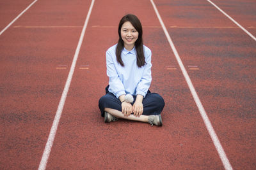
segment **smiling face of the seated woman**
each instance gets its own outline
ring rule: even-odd
[[[121,36],[125,48],[127,48],[127,50],[132,50],[135,41],[138,39],[139,32],[133,27],[131,22],[127,21],[121,27]]]

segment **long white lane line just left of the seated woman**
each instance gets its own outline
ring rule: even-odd
[[[77,45],[77,48],[76,48],[76,53],[74,55],[72,65],[71,65],[70,71],[68,73],[68,78],[67,78],[64,90],[62,92],[62,95],[61,95],[58,110],[56,111],[56,115],[55,115],[55,118],[54,118],[54,121],[53,121],[53,124],[52,124],[52,127],[51,127],[51,132],[50,132],[49,137],[47,139],[47,143],[45,145],[44,153],[42,155],[42,159],[41,159],[40,165],[38,167],[38,169],[40,169],[40,170],[46,168],[47,161],[48,161],[49,155],[51,153],[52,143],[53,143],[55,135],[56,135],[58,124],[60,122],[61,113],[62,113],[64,104],[65,104],[65,101],[66,101],[66,97],[67,97],[67,94],[68,94],[68,89],[70,87],[70,83],[71,83],[71,80],[72,80],[74,69],[76,67],[76,61],[77,61],[79,51],[80,51],[80,48],[81,48],[81,45],[82,45],[82,42],[83,42],[84,33],[86,31],[86,27],[87,27],[90,15],[92,13],[92,8],[93,8],[94,1],[95,0],[92,0],[92,3],[90,5],[90,9],[88,11],[86,20],[84,22],[83,31],[81,32],[81,36],[80,36],[80,39],[79,39],[79,42],[78,42],[78,45]]]

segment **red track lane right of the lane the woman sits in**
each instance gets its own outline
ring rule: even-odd
[[[160,4],[163,1],[156,1]],[[183,2],[187,4],[186,2]],[[191,6],[202,1],[189,1]],[[173,1],[172,5],[180,4]],[[159,11],[167,15],[167,6]],[[169,6],[171,8],[171,6]],[[179,5],[180,13],[188,6]],[[198,70],[189,69],[188,73],[198,91],[204,108],[207,111],[212,125],[227,153],[227,157],[234,168],[253,169],[255,161],[253,150],[255,143],[255,42],[244,34],[241,29],[217,29],[225,16],[221,13],[211,14],[211,10],[187,11],[191,15],[208,16],[208,20],[216,20],[212,28],[169,29],[170,36],[179,51],[184,64],[196,66]],[[214,8],[214,7],[212,7]],[[196,11],[196,12],[195,12]],[[196,14],[195,14],[195,13]],[[201,14],[200,14],[201,13]],[[187,18],[188,22],[198,23],[201,17]],[[166,25],[179,23],[173,22],[173,17],[163,18]],[[177,20],[179,22],[179,20]],[[232,22],[228,22],[232,24]],[[208,23],[205,23],[206,25]],[[190,25],[188,24],[187,27]],[[191,67],[190,67],[191,68]]]

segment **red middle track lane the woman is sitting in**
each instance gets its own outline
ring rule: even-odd
[[[134,3],[95,2],[47,169],[223,168],[182,74],[167,69],[177,62],[152,5],[136,1],[131,10]],[[145,45],[153,52],[151,90],[166,100],[161,128],[126,120],[104,124],[100,117],[97,105],[108,84],[105,52],[115,44],[118,21],[128,12],[143,22]]]

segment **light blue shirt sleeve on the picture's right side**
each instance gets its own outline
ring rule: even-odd
[[[136,96],[138,94],[142,95],[143,97],[146,96],[148,89],[150,87],[152,76],[151,76],[151,51],[149,49],[145,52],[145,61],[147,64],[144,66],[143,75],[141,77],[140,82],[138,83],[137,89],[136,89]]]

